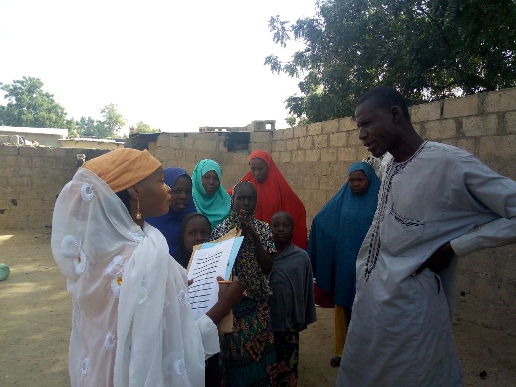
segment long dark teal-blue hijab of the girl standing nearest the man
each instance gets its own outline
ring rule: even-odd
[[[348,175],[358,170],[367,176],[367,191],[355,195],[346,182],[312,221],[307,249],[317,286],[334,294],[335,304],[347,309],[356,292],[357,255],[373,222],[380,189],[372,166],[354,163]]]

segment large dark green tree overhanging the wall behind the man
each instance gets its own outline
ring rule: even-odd
[[[305,45],[289,61],[265,60],[302,77],[286,100],[297,122],[353,115],[378,85],[410,104],[516,86],[514,0],[322,0],[315,18],[276,16],[269,27],[282,47]]]

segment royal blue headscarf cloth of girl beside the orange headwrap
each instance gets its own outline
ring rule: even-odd
[[[188,173],[186,173],[184,169],[178,167],[166,168],[163,173],[165,174],[165,183],[170,188],[174,186],[175,181],[178,180],[179,176],[186,175],[188,176],[188,179],[190,179]],[[159,216],[157,218],[147,219],[147,222],[150,225],[153,225],[165,236],[165,239],[167,239],[168,243],[168,251],[173,257],[178,251],[179,230],[181,228],[181,222],[186,215],[192,212],[197,212],[197,208],[190,196],[190,201],[186,205],[186,208],[183,209],[183,211],[176,212],[170,209],[168,214]]]

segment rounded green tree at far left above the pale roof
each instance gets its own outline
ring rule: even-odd
[[[14,80],[10,85],[3,85],[7,105],[0,105],[0,124],[69,127],[65,108],[54,100],[53,94],[43,91],[42,87],[41,79],[27,76]]]

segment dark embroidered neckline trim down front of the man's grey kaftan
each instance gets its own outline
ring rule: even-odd
[[[365,282],[369,280],[371,272],[376,267],[376,262],[378,261],[378,255],[380,254],[380,224],[383,221],[385,216],[385,210],[387,209],[387,204],[389,202],[389,195],[392,190],[392,181],[394,176],[396,176],[399,171],[404,169],[407,164],[409,164],[418,154],[420,154],[425,148],[427,141],[423,142],[421,147],[410,157],[407,161],[397,164],[394,166],[394,159],[385,167],[385,181],[382,184],[382,191],[380,193],[380,204],[378,217],[376,219],[375,228],[373,230],[373,235],[371,236],[371,243],[369,244],[369,252],[367,254],[367,262],[365,265]],[[394,170],[393,169],[394,166]],[[392,173],[391,173],[392,170]]]

